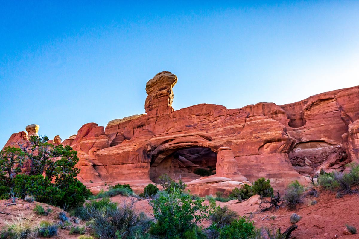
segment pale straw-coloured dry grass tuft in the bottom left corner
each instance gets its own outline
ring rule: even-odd
[[[12,222],[5,222],[8,226],[8,236],[11,239],[33,238],[37,229],[38,221],[34,215],[25,217],[24,214],[18,214],[12,218]]]

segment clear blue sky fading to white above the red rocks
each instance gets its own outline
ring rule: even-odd
[[[132,2],[0,0],[0,148],[28,124],[66,139],[144,113],[164,70],[174,109],[359,84],[359,1]]]

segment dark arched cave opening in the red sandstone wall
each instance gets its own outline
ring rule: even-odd
[[[166,152],[162,154],[166,154]],[[160,162],[153,160],[150,168],[150,179],[158,183],[158,178],[166,173],[174,180],[181,177],[182,181],[189,182],[215,174],[216,163],[217,153],[210,148],[190,147],[171,150],[171,153],[164,156]]]

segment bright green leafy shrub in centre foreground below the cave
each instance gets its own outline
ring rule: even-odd
[[[203,199],[182,193],[174,188],[170,193],[159,192],[158,197],[150,201],[156,223],[150,233],[165,238],[182,237],[188,230],[196,227],[207,218],[208,206]]]

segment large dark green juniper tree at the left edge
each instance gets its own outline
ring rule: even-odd
[[[90,192],[76,179],[80,172],[75,167],[79,161],[77,152],[47,140],[46,136],[32,135],[26,147],[0,150],[0,197],[9,195],[9,187],[22,199],[33,195],[39,202],[62,208],[84,203]],[[24,162],[29,175],[19,174]]]

